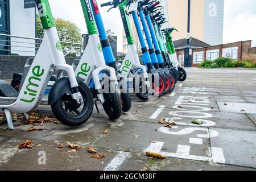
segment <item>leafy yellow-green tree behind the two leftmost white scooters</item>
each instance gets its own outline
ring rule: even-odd
[[[76,26],[76,24],[60,18],[54,18],[54,21],[60,41],[71,43],[82,42],[81,30]],[[39,16],[36,18],[36,36],[38,38],[43,38],[44,36],[44,30]],[[67,43],[61,43],[61,46],[63,47],[64,54],[68,53],[74,48],[77,48],[76,45]],[[77,51],[77,49],[75,49],[75,51]]]

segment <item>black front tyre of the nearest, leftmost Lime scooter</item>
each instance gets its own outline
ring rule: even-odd
[[[79,92],[82,94],[84,98],[84,103],[82,104],[82,110],[80,114],[76,113],[77,115],[73,115],[68,113],[68,110],[71,112],[76,112],[79,110],[81,105],[76,104],[76,102],[72,99],[70,95],[64,95],[59,100],[51,105],[52,112],[55,117],[64,125],[67,126],[80,126],[84,124],[92,114],[93,111],[93,96],[90,92],[90,89],[84,82],[79,83]],[[65,108],[63,107],[63,103]],[[76,111],[74,111],[76,110]]]

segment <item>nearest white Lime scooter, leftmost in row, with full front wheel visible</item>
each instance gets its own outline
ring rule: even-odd
[[[0,80],[0,108],[5,111],[9,129],[13,130],[11,113],[23,113],[28,119],[24,113],[40,104],[52,73],[64,71],[68,77],[57,80],[52,86],[48,104],[60,122],[68,126],[82,125],[92,114],[92,93],[65,62],[48,0],[35,2],[44,28],[44,39],[29,71],[23,75],[24,82],[19,93],[7,82]]]

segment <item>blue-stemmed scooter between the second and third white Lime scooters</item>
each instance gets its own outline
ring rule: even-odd
[[[125,76],[121,74],[121,72],[117,71],[117,65],[115,63],[115,57],[112,51],[112,48],[109,43],[108,35],[106,35],[104,23],[101,18],[100,10],[98,8],[98,4],[96,0],[90,0],[90,5],[92,7],[94,19],[98,28],[98,34],[100,35],[102,52],[104,55],[105,63],[109,67],[115,69],[115,74],[117,75],[117,81],[119,84],[119,88],[126,89],[124,92],[121,92],[121,101],[122,101],[122,111],[127,112],[131,109],[131,97],[127,92],[127,82]]]

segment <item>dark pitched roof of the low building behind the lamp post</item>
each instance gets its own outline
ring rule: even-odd
[[[193,37],[191,37],[189,39],[189,42],[190,42],[190,46],[192,48],[203,48],[203,47],[210,46],[209,44],[207,44],[201,40],[198,40],[196,38],[193,38]],[[187,39],[179,39],[179,40],[174,41],[175,49],[183,49],[183,48],[185,48],[186,45],[187,45]]]

